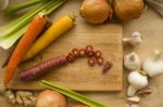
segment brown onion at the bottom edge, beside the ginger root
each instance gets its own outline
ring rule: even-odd
[[[46,90],[38,95],[36,107],[67,107],[67,104],[61,93]]]

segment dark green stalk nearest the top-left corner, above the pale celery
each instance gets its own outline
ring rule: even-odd
[[[21,3],[16,3],[16,4],[11,4],[4,10],[4,14],[7,16],[12,16],[15,12],[22,9],[25,9],[25,8],[28,8],[28,6],[45,2],[45,1],[48,1],[48,0],[29,0],[29,1],[24,1]]]

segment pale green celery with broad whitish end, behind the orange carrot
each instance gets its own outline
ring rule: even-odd
[[[36,14],[38,14],[38,12],[46,10],[46,14],[48,15],[65,2],[66,0],[50,0],[42,2],[37,8],[27,12],[17,19],[0,27],[0,46],[5,50],[11,48],[25,32],[28,27],[28,23]]]

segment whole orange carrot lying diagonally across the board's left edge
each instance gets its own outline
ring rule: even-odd
[[[46,17],[43,17],[43,14],[39,13],[30,22],[27,30],[21,38],[9,61],[3,78],[4,85],[8,85],[8,83],[12,79],[17,65],[20,64],[21,59],[26,54],[26,52],[28,51],[28,49],[30,48],[30,45],[33,44],[33,42],[35,41],[41,29],[43,28],[46,21],[47,19]]]

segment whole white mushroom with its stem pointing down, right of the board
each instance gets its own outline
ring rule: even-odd
[[[143,89],[148,85],[148,78],[147,76],[143,76],[138,71],[131,71],[128,75],[128,82],[129,82],[129,86],[128,86],[127,95],[134,96],[138,90]]]

